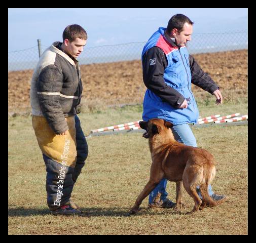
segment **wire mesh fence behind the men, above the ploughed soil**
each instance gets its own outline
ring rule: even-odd
[[[138,60],[146,42],[106,45],[84,49],[78,60],[81,64]],[[48,47],[42,45],[43,53]],[[248,49],[248,31],[223,33],[193,33],[187,48],[190,54]],[[38,45],[29,49],[8,52],[8,71],[35,68],[39,60]]]

